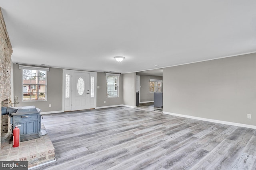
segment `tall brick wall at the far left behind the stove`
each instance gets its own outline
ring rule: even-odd
[[[0,102],[11,96],[11,54],[12,45],[6,30],[6,25],[0,8]],[[0,110],[0,113],[2,111]],[[2,132],[2,116],[0,116],[0,131]],[[1,137],[1,133],[0,133]],[[1,141],[0,141],[1,145]]]

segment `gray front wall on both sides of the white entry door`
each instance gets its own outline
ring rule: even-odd
[[[62,69],[50,68],[47,78],[47,101],[34,101],[34,102],[22,102],[22,71],[19,69],[18,64],[13,64],[13,96],[18,96],[18,107],[20,106],[36,106],[42,110],[42,112],[48,111],[60,111],[62,110]],[[97,72],[97,107],[113,106],[123,104],[123,84],[122,74],[119,77],[119,97],[107,98],[106,97],[106,75],[104,72]],[[104,104],[106,101],[106,104]],[[49,104],[52,107],[49,107]],[[132,105],[134,106],[134,105]]]

